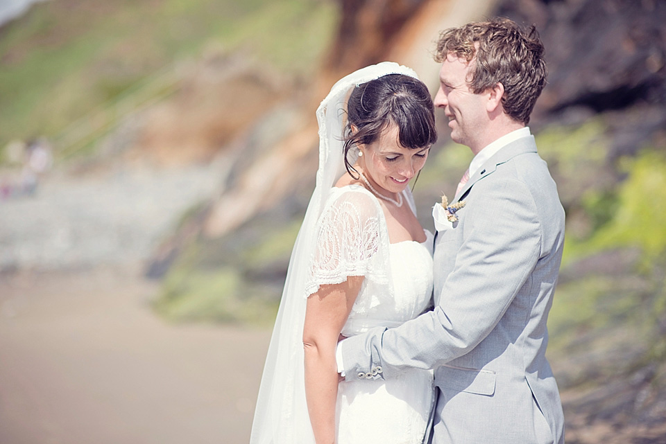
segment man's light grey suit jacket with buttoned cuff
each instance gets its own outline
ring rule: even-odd
[[[346,379],[434,369],[435,444],[561,444],[545,350],[564,211],[533,137],[488,159],[458,199],[459,222],[435,242],[434,310],[345,339]]]

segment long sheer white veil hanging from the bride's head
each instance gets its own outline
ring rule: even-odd
[[[343,130],[348,93],[361,83],[388,74],[418,78],[414,71],[394,62],[366,66],[336,82],[317,109],[319,169],[316,187],[291,252],[287,281],[259,387],[250,444],[314,444],[305,402],[302,334],[307,301],[305,281],[316,245],[316,225],[328,193],[345,172]],[[350,163],[355,160],[350,159]]]

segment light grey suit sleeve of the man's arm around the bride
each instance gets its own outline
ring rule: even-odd
[[[384,378],[404,368],[436,368],[475,348],[529,279],[541,250],[541,224],[527,186],[517,179],[480,181],[440,303],[398,328],[375,328],[343,341],[348,380],[381,366]],[[461,221],[462,222],[462,221]],[[435,270],[437,273],[437,270]]]

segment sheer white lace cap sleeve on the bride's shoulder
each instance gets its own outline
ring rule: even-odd
[[[360,186],[332,190],[318,221],[305,295],[364,276],[388,283],[388,232],[377,199]]]

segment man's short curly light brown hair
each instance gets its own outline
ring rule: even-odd
[[[524,30],[515,21],[496,18],[444,30],[435,60],[453,53],[472,63],[470,91],[480,94],[504,86],[504,112],[527,125],[536,99],[546,85],[544,47],[535,26]]]

